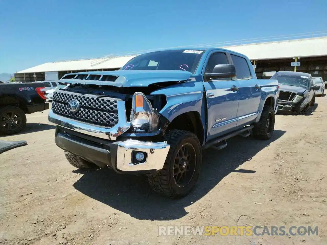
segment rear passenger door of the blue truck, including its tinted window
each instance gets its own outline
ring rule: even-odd
[[[237,126],[250,123],[258,114],[260,103],[260,84],[255,74],[251,74],[251,63],[248,59],[231,53],[239,82],[239,106],[237,110]],[[253,71],[254,73],[254,71]]]

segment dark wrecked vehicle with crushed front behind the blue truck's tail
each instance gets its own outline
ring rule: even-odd
[[[302,114],[315,104],[312,76],[301,72],[277,72],[270,79],[279,83],[278,112]]]

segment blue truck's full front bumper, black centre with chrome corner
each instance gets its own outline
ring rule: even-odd
[[[109,166],[121,173],[152,173],[163,168],[170,145],[167,142],[96,141],[86,135],[57,127],[55,142],[64,151],[77,155],[99,167]],[[135,155],[142,152],[145,159],[137,162]]]

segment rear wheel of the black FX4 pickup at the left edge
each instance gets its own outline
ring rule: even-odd
[[[26,115],[17,106],[0,108],[0,134],[10,135],[21,132],[26,125]]]

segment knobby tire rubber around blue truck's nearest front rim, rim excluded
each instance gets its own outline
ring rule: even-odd
[[[186,196],[196,185],[202,164],[202,148],[198,137],[188,131],[171,130],[164,136],[164,140],[170,144],[163,169],[148,175],[148,182],[152,190],[173,199]],[[185,187],[181,188],[174,179],[174,162],[177,153],[185,143],[190,143],[196,154],[196,164],[193,176]]]

